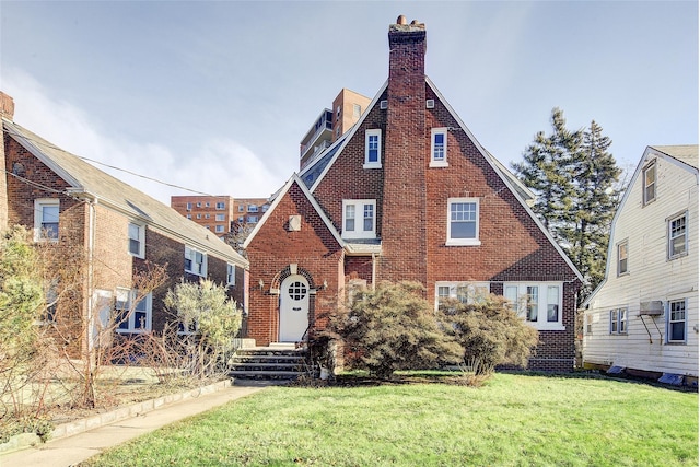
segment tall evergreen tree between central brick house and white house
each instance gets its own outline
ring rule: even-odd
[[[619,202],[620,170],[608,152],[611,140],[595,121],[570,131],[563,112],[552,109],[552,133],[544,131],[512,167],[537,195],[533,207],[584,277],[586,296],[605,273],[610,222]]]

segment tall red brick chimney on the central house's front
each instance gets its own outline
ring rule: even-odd
[[[389,25],[381,278],[427,282],[425,25]]]

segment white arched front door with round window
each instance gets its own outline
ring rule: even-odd
[[[280,342],[299,342],[308,327],[308,281],[290,276],[280,288]]]

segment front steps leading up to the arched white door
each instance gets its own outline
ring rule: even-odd
[[[235,380],[295,380],[312,369],[306,349],[272,342],[269,347],[241,348],[231,359],[229,375]]]

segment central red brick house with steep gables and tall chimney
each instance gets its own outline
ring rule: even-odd
[[[279,190],[244,246],[248,336],[302,341],[351,287],[415,280],[504,295],[539,330],[529,367],[570,371],[582,280],[528,191],[424,74],[425,27],[389,25],[389,75],[358,124]]]

